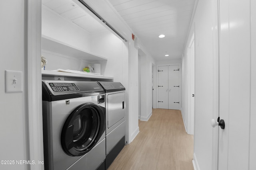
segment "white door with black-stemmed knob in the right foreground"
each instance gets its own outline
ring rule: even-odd
[[[256,39],[251,35],[256,33],[255,27],[252,29],[256,20],[251,12],[256,5],[250,0],[219,2],[219,114],[225,129],[219,129],[218,170],[254,170],[256,151],[250,148],[255,149],[256,141],[255,116],[252,117],[256,96],[252,93],[256,89],[252,64],[256,63],[251,43]]]

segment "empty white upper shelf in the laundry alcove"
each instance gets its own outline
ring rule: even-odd
[[[84,59],[88,62],[108,60],[106,57],[96,55],[83,49],[79,49],[57,39],[48,37],[46,35],[42,35],[42,49],[52,51],[54,53],[59,53],[62,55],[76,57],[78,59]]]

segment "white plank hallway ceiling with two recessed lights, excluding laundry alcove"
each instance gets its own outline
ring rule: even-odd
[[[181,59],[195,0],[109,1],[156,61]]]

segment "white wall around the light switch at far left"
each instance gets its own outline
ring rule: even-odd
[[[0,160],[14,160],[14,165],[2,165],[0,169],[27,170],[26,164],[16,164],[16,160],[28,160],[28,115],[26,94],[5,93],[4,70],[23,72],[25,76],[25,1],[2,1],[0,7]],[[23,79],[25,82],[25,79]],[[24,87],[24,84],[23,84]]]

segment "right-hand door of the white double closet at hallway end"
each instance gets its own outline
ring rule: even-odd
[[[168,108],[180,109],[179,65],[168,66]]]

